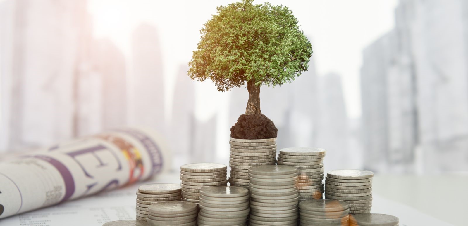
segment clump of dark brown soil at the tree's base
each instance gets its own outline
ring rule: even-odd
[[[278,135],[273,121],[262,113],[241,114],[233,127],[231,137],[236,139],[267,139]]]

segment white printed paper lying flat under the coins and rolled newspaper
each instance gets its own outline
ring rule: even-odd
[[[139,184],[148,183],[179,183],[179,175],[161,175]],[[135,219],[139,184],[0,219],[0,226],[102,226],[109,221]],[[373,195],[372,212],[394,215],[400,219],[400,226],[452,226],[378,195]]]

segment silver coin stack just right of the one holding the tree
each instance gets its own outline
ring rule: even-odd
[[[322,148],[283,148],[279,150],[278,165],[294,166],[298,169],[299,199],[322,199],[323,158]]]

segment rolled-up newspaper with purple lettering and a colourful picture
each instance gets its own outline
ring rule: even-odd
[[[131,184],[167,170],[161,136],[116,129],[0,162],[0,219]]]

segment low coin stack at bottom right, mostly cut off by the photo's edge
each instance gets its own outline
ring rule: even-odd
[[[350,226],[399,226],[400,220],[392,215],[361,213],[350,217]]]

